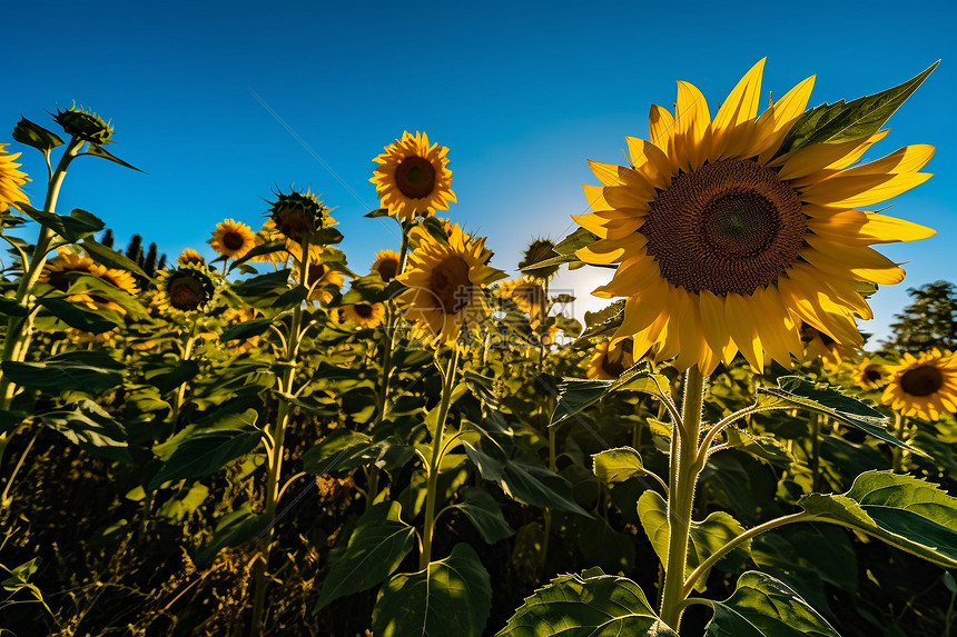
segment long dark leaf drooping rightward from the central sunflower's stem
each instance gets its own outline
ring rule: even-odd
[[[463,442],[468,459],[486,480],[497,482],[502,490],[524,505],[551,508],[591,517],[571,497],[571,487],[561,476],[544,467],[496,454],[494,458],[483,450]]]

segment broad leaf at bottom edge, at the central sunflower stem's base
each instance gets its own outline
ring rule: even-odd
[[[376,635],[480,637],[492,609],[492,584],[467,544],[418,573],[398,574],[382,587],[372,611]]]

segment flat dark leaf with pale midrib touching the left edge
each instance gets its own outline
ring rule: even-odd
[[[42,362],[0,364],[17,385],[59,391],[97,392],[122,382],[126,366],[105,351],[68,351]]]

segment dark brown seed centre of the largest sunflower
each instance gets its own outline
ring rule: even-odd
[[[750,295],[798,259],[808,221],[773,171],[727,159],[673,178],[639,231],[672,285]]]

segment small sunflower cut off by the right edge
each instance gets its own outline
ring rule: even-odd
[[[881,402],[904,416],[939,420],[940,414],[957,412],[957,356],[936,347],[915,358],[904,355],[900,365],[887,370],[889,381]]]

